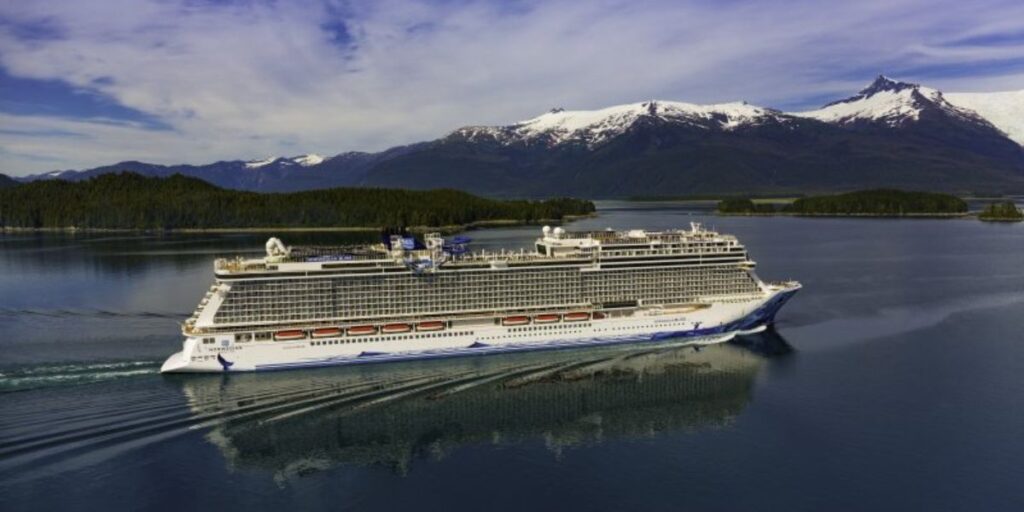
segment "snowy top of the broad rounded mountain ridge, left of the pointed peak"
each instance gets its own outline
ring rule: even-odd
[[[694,104],[651,100],[595,111],[553,109],[536,118],[509,126],[460,128],[450,137],[466,140],[494,139],[506,144],[543,142],[547,145],[558,145],[574,142],[596,146],[622,135],[641,120],[658,120],[706,130],[732,130],[740,126],[784,122],[790,119],[790,116],[778,111],[752,105],[745,101]]]

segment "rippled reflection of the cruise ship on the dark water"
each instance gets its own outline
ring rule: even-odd
[[[727,344],[683,342],[280,374],[183,378],[207,435],[233,468],[279,482],[338,465],[404,474],[468,444],[575,445],[729,425],[774,331]]]

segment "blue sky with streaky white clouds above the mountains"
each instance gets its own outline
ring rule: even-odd
[[[552,108],[1024,89],[1021,0],[11,0],[0,172],[380,151]]]

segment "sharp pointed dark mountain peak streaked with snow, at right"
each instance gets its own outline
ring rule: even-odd
[[[879,76],[851,97],[833,101],[816,111],[793,115],[825,123],[881,123],[900,127],[920,121],[922,115],[929,111],[938,111],[969,122],[982,121],[974,111],[954,105],[936,89],[897,82],[885,76]]]

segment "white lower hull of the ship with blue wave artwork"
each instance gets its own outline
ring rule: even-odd
[[[290,370],[543,350],[691,338],[694,344],[728,341],[763,330],[800,289],[774,289],[756,300],[719,301],[697,310],[639,309],[628,316],[583,322],[502,326],[453,324],[433,333],[338,336],[294,341],[236,342],[234,333],[188,337],[161,372],[221,373]],[[212,338],[212,339],[211,339]]]

